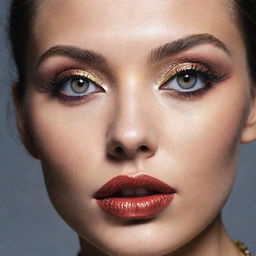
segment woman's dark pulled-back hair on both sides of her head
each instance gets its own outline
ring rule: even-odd
[[[256,81],[256,0],[230,0],[247,49],[250,75]],[[23,96],[26,83],[28,41],[39,0],[13,0],[10,8],[9,38],[17,66],[17,93]]]

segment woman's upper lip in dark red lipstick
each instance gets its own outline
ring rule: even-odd
[[[94,198],[101,199],[129,188],[146,188],[159,193],[175,193],[175,189],[152,176],[141,174],[135,177],[119,175],[105,183],[95,194]]]

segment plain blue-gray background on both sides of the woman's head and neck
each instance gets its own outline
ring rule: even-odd
[[[15,69],[5,39],[9,2],[0,0],[0,256],[73,256],[76,235],[53,210],[40,164],[23,149],[15,130],[9,86]],[[232,237],[245,241],[254,255],[255,155],[256,143],[242,146],[237,182],[223,212]]]

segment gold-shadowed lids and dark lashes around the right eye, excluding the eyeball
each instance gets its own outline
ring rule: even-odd
[[[202,66],[202,64],[198,64],[198,63],[192,63],[192,64],[186,64],[186,65],[187,67],[185,68],[183,67],[181,69],[174,67],[173,69],[175,69],[175,71],[171,75],[169,74],[170,72],[167,72],[167,74],[164,75],[164,78],[162,79],[163,82],[160,82],[161,84],[160,89],[164,88],[169,82],[173,81],[178,76],[194,75],[197,77],[201,77],[205,81],[204,82],[205,85],[204,87],[197,90],[179,91],[179,90],[164,88],[165,90],[171,91],[172,96],[176,98],[181,98],[184,100],[192,100],[196,97],[200,97],[204,95],[208,90],[213,88],[216,85],[216,83],[223,81],[224,78],[226,77],[226,74],[219,75],[217,74],[216,71],[208,67],[208,65],[207,67],[206,65]]]

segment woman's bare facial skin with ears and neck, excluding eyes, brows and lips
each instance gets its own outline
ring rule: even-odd
[[[152,49],[194,34],[213,35],[230,54],[204,43],[149,61]],[[240,255],[220,211],[234,182],[239,144],[255,140],[256,107],[244,42],[226,3],[45,0],[30,43],[26,93],[23,101],[16,98],[18,126],[42,162],[54,207],[79,234],[83,255]],[[58,54],[38,64],[56,45],[93,50],[106,61]],[[225,79],[192,99],[160,89],[170,63],[192,57],[214,63]],[[41,90],[70,66],[91,70],[105,91],[67,102]],[[93,194],[117,175],[139,173],[174,187],[171,205],[139,222],[102,212]]]

